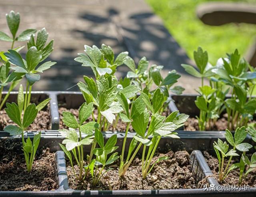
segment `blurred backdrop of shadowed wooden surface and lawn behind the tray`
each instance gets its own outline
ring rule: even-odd
[[[208,51],[213,65],[236,48],[248,61],[255,52],[256,0],[211,3],[210,0],[0,0],[0,31],[10,33],[5,14],[14,10],[20,13],[18,34],[28,28],[45,27],[49,40],[54,39],[54,51],[46,61],[57,64],[42,74],[34,90],[77,91],[74,85],[83,80],[83,75],[93,74],[74,58],[83,52],[84,44],[100,47],[104,43],[115,54],[128,51],[136,62],[146,56],[150,64],[164,65],[164,76],[172,69],[177,70],[182,75],[178,85],[186,88],[185,93],[195,93],[200,80],[186,74],[180,64],[194,64],[193,51],[198,46]],[[26,42],[16,46],[22,44]],[[0,41],[0,51],[9,48],[9,42]],[[22,55],[25,53],[24,48]],[[124,77],[127,71],[126,66],[120,66],[117,76]]]

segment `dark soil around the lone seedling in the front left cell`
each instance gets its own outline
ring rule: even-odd
[[[0,141],[0,191],[49,191],[57,188],[54,153],[39,148],[32,166],[26,170],[21,142]]]

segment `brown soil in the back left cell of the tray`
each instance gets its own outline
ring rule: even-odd
[[[0,131],[4,130],[7,125],[15,125],[12,120],[8,117],[5,110],[0,110]],[[28,127],[28,131],[44,131],[50,130],[50,105],[48,104],[45,111],[41,110],[38,112],[34,122]]]

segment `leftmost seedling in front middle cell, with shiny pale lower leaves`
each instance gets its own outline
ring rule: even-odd
[[[60,134],[66,139],[62,141],[63,144],[60,144],[60,147],[67,155],[70,160],[70,164],[72,166],[72,171],[76,176],[76,179],[82,181],[83,177],[83,169],[84,169],[84,149],[83,145],[89,145],[92,143],[94,135],[93,131],[98,128],[98,123],[91,121],[88,123],[84,123],[88,117],[92,114],[94,110],[93,103],[83,103],[79,109],[79,115],[77,121],[76,117],[70,113],[69,111],[63,112],[63,122],[65,125],[69,127],[68,129],[59,129]],[[78,129],[78,134],[76,133],[76,129]],[[82,138],[82,133],[86,134],[86,137]],[[73,159],[74,156],[76,163],[79,167],[79,175],[76,175],[74,171]]]

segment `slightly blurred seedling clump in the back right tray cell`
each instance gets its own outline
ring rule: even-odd
[[[223,112],[227,113],[229,130],[248,126],[256,110],[255,94],[256,72],[244,58],[240,58],[238,50],[220,58],[216,66],[208,62],[208,54],[202,48],[194,52],[194,60],[198,70],[193,66],[182,64],[192,76],[202,79],[195,104],[200,110],[198,127],[200,131],[211,130]],[[208,79],[209,85],[204,84]],[[231,93],[228,97],[227,94]]]

